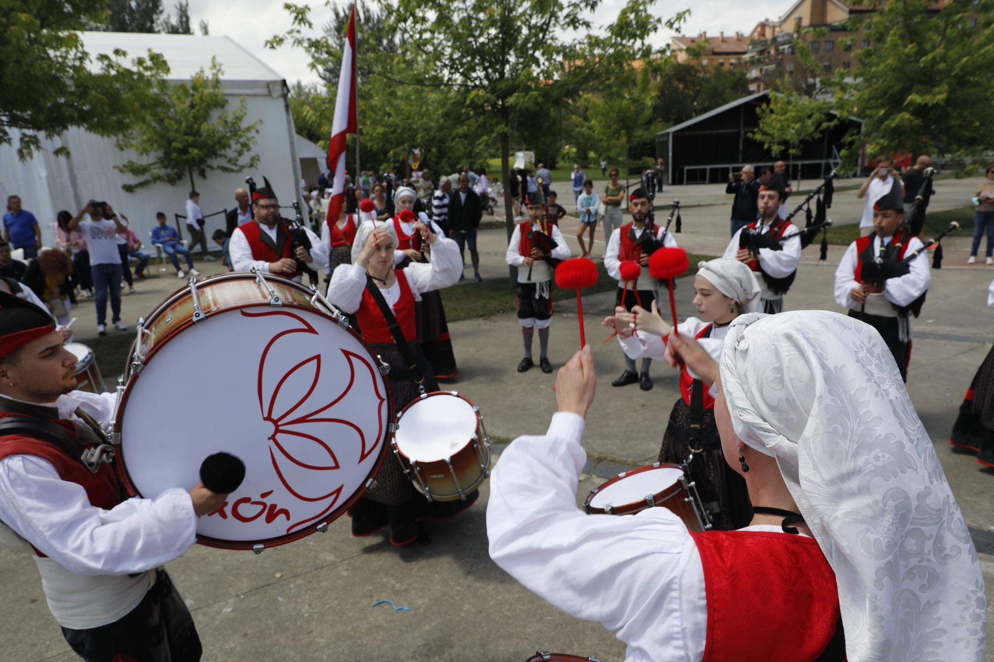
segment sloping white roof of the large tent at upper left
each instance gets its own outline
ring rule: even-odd
[[[148,51],[160,53],[169,64],[170,81],[189,81],[201,69],[217,58],[223,81],[253,81],[267,83],[282,81],[283,77],[250,54],[231,37],[212,35],[163,35],[132,32],[83,32],[83,48],[90,55],[113,56],[115,49],[127,53],[126,61],[144,56]]]

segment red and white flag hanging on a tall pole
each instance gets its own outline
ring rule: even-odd
[[[334,177],[331,200],[328,201],[329,226],[338,223],[338,215],[345,205],[345,147],[348,134],[355,134],[358,128],[356,115],[356,6],[353,4],[345,32],[342,71],[338,76],[335,116],[331,123],[331,143],[328,145],[328,169]]]

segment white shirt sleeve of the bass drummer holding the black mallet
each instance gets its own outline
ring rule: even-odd
[[[110,510],[90,505],[81,485],[47,460],[0,460],[0,520],[77,575],[127,575],[173,561],[196,542],[197,517],[183,489],[128,499]]]

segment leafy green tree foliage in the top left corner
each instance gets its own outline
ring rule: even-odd
[[[151,106],[155,85],[169,72],[152,53],[130,64],[120,50],[89,58],[79,32],[105,19],[106,0],[65,0],[36,13],[38,6],[5,0],[0,13],[0,143],[12,143],[18,132],[22,160],[41,148],[43,137],[74,126],[121,133]]]

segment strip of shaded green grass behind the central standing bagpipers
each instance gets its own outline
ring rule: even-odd
[[[697,273],[697,263],[702,259],[715,259],[713,255],[689,253],[691,268],[685,275]],[[595,294],[617,288],[617,281],[607,275],[607,270],[601,261],[597,261],[597,282],[583,294]],[[681,276],[683,277],[683,276]],[[553,299],[572,297],[574,294],[561,290],[554,285]],[[511,293],[511,279],[487,278],[482,282],[464,282],[461,285],[448,287],[441,291],[441,299],[445,304],[445,318],[449,322],[458,322],[474,317],[489,317],[498,313],[511,312],[515,309],[514,295]]]

